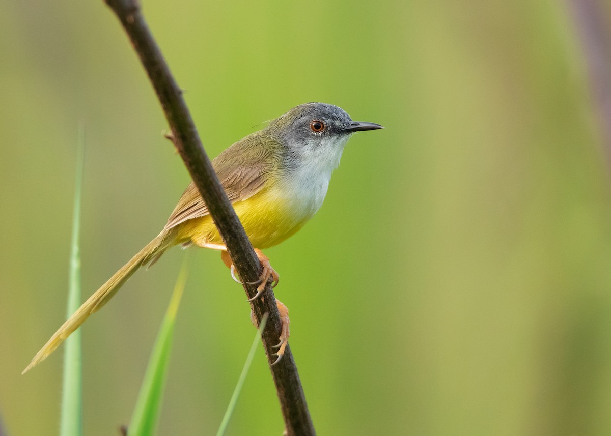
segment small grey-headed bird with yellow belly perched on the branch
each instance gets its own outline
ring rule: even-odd
[[[239,140],[213,159],[214,171],[262,264],[257,295],[268,282],[279,282],[262,249],[295,234],[320,209],[331,173],[340,163],[348,139],[356,132],[382,129],[357,122],[340,107],[305,103],[271,120],[265,128]],[[72,332],[116,294],[140,267],[151,266],[174,245],[220,250],[235,277],[232,260],[208,208],[193,182],[178,200],[166,225],[151,242],[115,272],[54,333],[23,374],[45,360]],[[288,308],[276,300],[282,320],[277,363],[289,336]],[[251,312],[252,318],[252,312]]]

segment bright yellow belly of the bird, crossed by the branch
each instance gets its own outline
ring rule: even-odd
[[[257,249],[280,244],[312,217],[310,213],[299,211],[274,189],[264,188],[251,198],[233,203],[233,208],[253,247]],[[210,215],[190,219],[178,227],[178,241],[190,240],[200,246],[224,244]]]

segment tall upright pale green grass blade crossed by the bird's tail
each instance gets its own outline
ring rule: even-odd
[[[67,316],[73,314],[81,305],[81,255],[79,254],[79,233],[81,229],[81,192],[84,155],[85,129],[81,124],[79,126],[76,159]],[[82,435],[82,362],[80,329],[72,333],[65,342],[64,380],[62,381],[62,413],[59,429],[60,436]]]

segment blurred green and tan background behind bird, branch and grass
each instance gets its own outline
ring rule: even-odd
[[[211,156],[307,101],[386,126],[266,250],[318,434],[611,434],[611,184],[568,4],[142,5]],[[1,2],[0,54],[0,415],[53,435],[61,351],[20,372],[64,321],[78,123],[84,297],[189,178],[102,1]],[[128,421],[184,254],[85,324],[85,434]],[[216,432],[255,333],[218,253],[195,254],[160,435]],[[229,434],[282,429],[259,350]]]

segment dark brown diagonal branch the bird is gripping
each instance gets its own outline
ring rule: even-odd
[[[261,270],[258,258],[212,169],[210,159],[203,150],[181,90],[144,21],[139,4],[136,0],[105,1],[119,18],[144,65],[172,130],[172,140],[225,240],[238,274],[244,279],[244,283],[255,282]],[[255,288],[255,285],[244,285],[244,291],[249,298],[255,295]],[[268,362],[271,363],[275,360],[272,346],[277,343],[280,336],[281,322],[276,308],[276,298],[269,285],[264,296],[265,299],[256,300],[252,306],[258,321],[265,312],[269,312],[269,320],[262,339]],[[290,347],[287,346],[282,360],[277,365],[271,366],[271,373],[276,383],[287,434],[314,435],[314,427]]]

